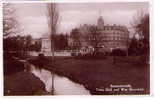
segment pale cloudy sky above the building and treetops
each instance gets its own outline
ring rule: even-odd
[[[45,3],[13,3],[24,33],[35,38],[48,33]],[[69,33],[82,24],[96,24],[99,16],[106,25],[118,24],[130,28],[133,17],[140,10],[148,12],[147,2],[129,3],[58,3],[58,32]]]

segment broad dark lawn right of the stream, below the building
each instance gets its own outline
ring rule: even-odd
[[[51,69],[59,75],[83,84],[91,91],[91,94],[149,94],[149,65],[134,63],[133,58],[118,57],[116,63],[113,64],[113,57],[99,60],[56,57],[55,66]],[[100,91],[109,88],[111,84],[131,85],[132,88],[144,90]]]

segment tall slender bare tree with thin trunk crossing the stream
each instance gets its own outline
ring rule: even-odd
[[[52,66],[54,66],[54,37],[57,32],[57,24],[58,24],[58,9],[57,4],[48,3],[47,4],[47,19],[48,19],[48,27],[50,32],[51,39],[51,52],[52,52]],[[54,94],[54,74],[52,75],[52,91],[51,94]]]

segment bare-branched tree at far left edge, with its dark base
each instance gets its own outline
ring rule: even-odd
[[[19,55],[25,55],[25,39],[21,35],[22,33],[20,24],[17,19],[16,9],[13,4],[3,4],[3,45],[5,45],[5,53],[15,51]],[[21,40],[20,40],[21,39]],[[9,45],[8,45],[9,44]],[[15,49],[11,48],[14,46]],[[8,48],[8,49],[7,49]]]

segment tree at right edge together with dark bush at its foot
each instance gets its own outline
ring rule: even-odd
[[[136,15],[132,25],[139,40],[132,39],[130,44],[130,52],[136,54],[149,54],[149,14],[143,11]],[[137,53],[138,52],[138,53]]]

